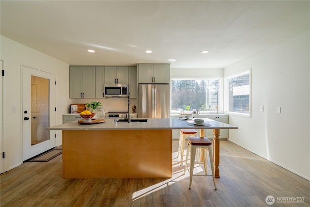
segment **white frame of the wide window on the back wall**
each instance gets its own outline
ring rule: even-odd
[[[218,113],[223,111],[223,77],[205,77],[205,78],[171,78],[170,85],[172,85],[172,80],[218,80]],[[170,93],[171,93],[170,87]],[[200,111],[201,114],[214,114],[215,111]],[[170,114],[179,114],[179,111],[172,111],[172,100],[170,97]]]

